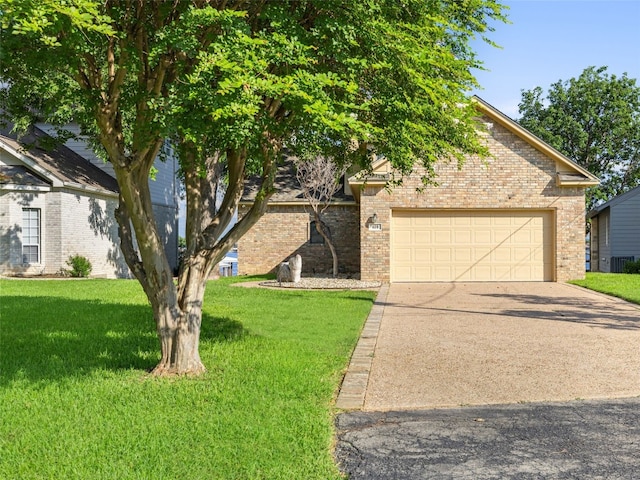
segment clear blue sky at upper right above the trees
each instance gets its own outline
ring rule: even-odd
[[[589,66],[626,72],[640,85],[640,0],[502,0],[510,24],[489,33],[502,48],[474,42],[489,71],[473,93],[518,118],[522,90],[580,76]]]

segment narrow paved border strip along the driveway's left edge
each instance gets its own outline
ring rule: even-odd
[[[389,284],[383,284],[378,290],[376,300],[364,324],[360,339],[351,355],[347,373],[342,380],[336,400],[336,408],[341,410],[362,410],[364,406],[369,373],[373,362],[373,352],[378,341],[380,321],[389,293]]]

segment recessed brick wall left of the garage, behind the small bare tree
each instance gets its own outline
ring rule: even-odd
[[[238,217],[248,211],[241,206]],[[330,206],[324,214],[338,254],[340,273],[360,271],[359,210],[355,204]],[[238,242],[238,273],[264,274],[276,271],[292,255],[302,257],[306,275],[330,274],[332,257],[329,247],[309,243],[309,224],[313,216],[305,205],[270,205],[267,212]]]

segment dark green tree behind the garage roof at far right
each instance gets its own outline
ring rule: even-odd
[[[587,191],[587,208],[640,185],[640,86],[607,67],[522,93],[518,122],[602,183]]]

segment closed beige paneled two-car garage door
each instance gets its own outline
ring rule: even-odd
[[[392,213],[392,281],[553,279],[552,212]]]

